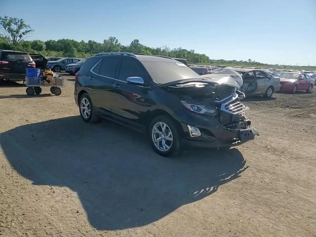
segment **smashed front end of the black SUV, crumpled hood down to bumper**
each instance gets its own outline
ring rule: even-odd
[[[238,91],[241,84],[229,75],[209,77],[160,85],[177,95],[184,107],[195,112],[177,115],[186,134],[185,140],[199,142],[200,146],[220,148],[254,139],[259,133],[250,127],[251,121],[246,118],[249,107],[240,102],[244,98],[244,93]],[[192,128],[198,136],[192,136]]]

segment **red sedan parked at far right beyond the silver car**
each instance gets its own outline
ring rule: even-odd
[[[283,72],[280,74],[280,90],[291,91],[306,90],[311,93],[314,86],[314,79],[306,73]]]

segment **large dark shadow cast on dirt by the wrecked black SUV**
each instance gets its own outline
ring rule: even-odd
[[[34,185],[77,192],[99,230],[143,226],[204,198],[247,167],[237,149],[193,150],[158,156],[143,136],[79,116],[23,125],[0,136],[10,164]]]

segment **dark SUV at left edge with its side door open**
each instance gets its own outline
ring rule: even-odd
[[[47,60],[40,54],[0,49],[0,81],[24,80],[27,68],[45,69]]]

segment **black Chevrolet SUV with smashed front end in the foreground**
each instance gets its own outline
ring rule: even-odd
[[[221,148],[254,139],[236,81],[216,77],[172,58],[102,53],[76,74],[75,101],[85,122],[104,117],[143,131],[163,156],[184,144]]]

